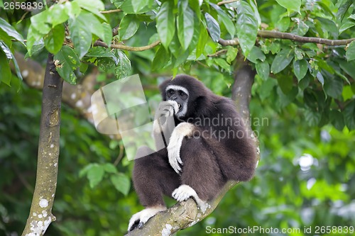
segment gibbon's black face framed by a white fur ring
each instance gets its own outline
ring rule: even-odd
[[[178,103],[179,110],[175,113],[176,117],[180,118],[186,115],[189,91],[185,87],[170,84],[165,89],[165,97],[167,101],[176,101]]]

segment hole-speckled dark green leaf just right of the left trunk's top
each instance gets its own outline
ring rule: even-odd
[[[70,84],[77,83],[74,70],[80,66],[80,59],[72,48],[67,45],[54,56],[55,67],[60,77]]]

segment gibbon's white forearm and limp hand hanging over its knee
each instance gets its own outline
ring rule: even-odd
[[[182,145],[182,140],[184,137],[192,137],[195,125],[192,123],[182,122],[176,126],[173,133],[170,136],[170,141],[168,145],[168,157],[170,166],[173,167],[176,173],[181,174],[182,171],[180,164],[182,165],[182,160],[180,157],[180,149]]]

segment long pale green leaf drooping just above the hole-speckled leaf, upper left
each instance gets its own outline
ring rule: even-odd
[[[95,18],[95,16],[88,12],[82,12],[77,18],[69,19],[70,36],[79,58],[84,57],[92,43],[92,30],[90,29],[92,27],[87,27],[91,18]],[[95,20],[97,21],[96,18]]]

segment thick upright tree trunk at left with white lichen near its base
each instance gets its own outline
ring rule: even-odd
[[[55,221],[52,206],[58,175],[62,84],[53,55],[49,54],[43,84],[35,192],[23,236],[44,235],[50,223]]]

